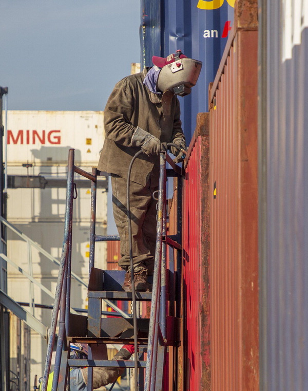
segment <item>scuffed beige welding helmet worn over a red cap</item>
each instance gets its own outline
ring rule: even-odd
[[[162,92],[170,90],[181,97],[190,94],[191,87],[197,83],[202,67],[201,61],[189,59],[181,50],[166,58],[153,55],[152,62],[161,68],[156,83],[157,88]]]

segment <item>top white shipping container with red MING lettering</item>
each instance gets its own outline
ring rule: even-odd
[[[69,148],[76,165],[96,166],[104,141],[103,111],[8,110],[8,162],[66,164]]]

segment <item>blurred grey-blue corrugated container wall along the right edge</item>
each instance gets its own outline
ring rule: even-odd
[[[308,3],[260,1],[260,381],[308,389]]]

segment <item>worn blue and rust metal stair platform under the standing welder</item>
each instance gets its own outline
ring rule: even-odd
[[[118,237],[95,235],[96,178],[100,174],[96,169],[92,174],[85,173],[74,166],[74,150],[69,151],[66,224],[63,253],[53,308],[53,320],[50,327],[42,391],[47,389],[50,370],[51,352],[54,343],[56,319],[60,308],[59,338],[52,391],[65,391],[69,377],[69,367],[88,367],[88,390],[92,390],[92,368],[99,367],[138,367],[139,391],[158,391],[162,389],[164,363],[167,347],[177,347],[180,343],[179,295],[181,282],[179,263],[181,262],[181,232],[179,221],[178,235],[166,235],[166,160],[176,170],[172,176],[181,176],[179,167],[165,153],[161,153],[161,176],[158,201],[158,230],[155,271],[152,291],[136,292],[136,301],[151,302],[150,319],[137,319],[137,343],[140,348],[137,365],[134,361],[115,361],[107,358],[107,344],[133,344],[134,328],[132,318],[102,318],[102,300],[131,301],[132,292],[122,289],[125,271],[101,270],[94,267],[94,248],[96,241],[117,240]],[[174,167],[175,166],[175,167]],[[74,191],[73,173],[77,172],[92,181],[91,192],[91,226],[90,226],[90,262],[88,284],[87,316],[69,312],[70,307],[70,247],[72,233],[72,200]],[[106,175],[103,173],[103,175]],[[179,182],[180,183],[180,182]],[[180,184],[178,184],[180,187]],[[180,192],[179,192],[180,193]],[[178,202],[181,204],[181,202]],[[178,208],[178,213],[180,213]],[[170,248],[170,268],[166,268],[166,247]],[[174,250],[177,254],[173,259]],[[89,355],[87,360],[70,359],[71,343],[87,343]],[[143,360],[143,353],[147,360]],[[145,374],[142,368],[146,368]],[[136,371],[136,370],[135,370]],[[145,381],[144,381],[145,375]],[[135,374],[137,376],[137,374]],[[143,384],[144,383],[144,384]],[[136,383],[135,383],[136,384]],[[137,390],[136,390],[137,391]]]

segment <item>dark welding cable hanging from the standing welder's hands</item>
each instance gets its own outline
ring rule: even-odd
[[[175,146],[180,152],[182,152],[184,155],[186,155],[186,151],[184,148],[181,148],[179,145],[174,143],[166,143],[167,146]],[[132,256],[132,233],[131,233],[131,213],[130,213],[130,174],[131,174],[131,168],[133,165],[133,162],[137,159],[137,157],[142,154],[143,151],[138,151],[133,158],[131,159],[131,162],[128,167],[128,173],[127,173],[127,190],[126,190],[126,197],[127,197],[127,218],[128,218],[128,237],[129,237],[129,258],[130,258],[130,275],[131,275],[131,291],[132,291],[132,318],[133,318],[133,342],[134,342],[134,370],[135,370],[135,376],[134,376],[134,389],[135,391],[138,391],[138,342],[137,342],[137,305],[136,305],[136,291],[134,287],[134,269],[133,269],[133,256]]]

